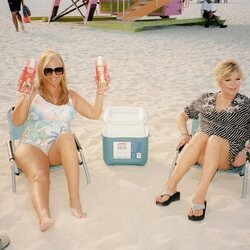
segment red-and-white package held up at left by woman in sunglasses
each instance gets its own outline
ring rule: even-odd
[[[26,60],[23,72],[18,83],[18,92],[29,95],[34,88],[36,62],[34,59]]]

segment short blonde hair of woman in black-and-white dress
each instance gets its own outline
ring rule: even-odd
[[[241,79],[243,80],[244,79],[243,71],[239,66],[239,64],[234,59],[228,58],[220,61],[215,67],[214,71],[217,84],[219,84],[222,79],[229,77],[229,75],[235,71],[239,73]]]

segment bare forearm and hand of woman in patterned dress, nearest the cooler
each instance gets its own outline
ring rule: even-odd
[[[184,111],[178,115],[177,124],[181,133],[181,137],[179,141],[177,142],[176,149],[179,149],[181,146],[185,145],[186,143],[190,141],[190,134],[187,128],[188,119],[189,118]]]

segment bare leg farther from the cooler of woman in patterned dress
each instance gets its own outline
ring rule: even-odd
[[[202,164],[201,177],[198,188],[194,195],[193,203],[204,204],[207,190],[217,169],[228,169],[229,167],[229,144],[226,140],[212,135],[206,145],[204,159],[199,160]],[[199,216],[203,213],[202,209],[189,211],[189,215]]]

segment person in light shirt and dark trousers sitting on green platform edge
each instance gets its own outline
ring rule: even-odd
[[[216,10],[212,10],[212,0],[205,0],[201,5],[201,15],[206,19],[205,28],[209,28],[209,22],[211,20],[215,20],[219,24],[220,28],[226,28],[227,25],[221,23],[218,16],[214,15],[215,12]]]

